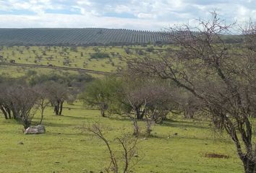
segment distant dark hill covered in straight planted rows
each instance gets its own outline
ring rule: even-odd
[[[0,45],[130,45],[168,42],[166,32],[104,28],[0,29]]]

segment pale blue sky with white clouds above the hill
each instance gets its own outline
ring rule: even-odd
[[[256,21],[256,0],[0,0],[0,27],[163,30],[207,19]]]

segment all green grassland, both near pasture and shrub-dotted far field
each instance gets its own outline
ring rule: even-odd
[[[130,48],[131,52],[126,53],[125,48]],[[167,53],[167,48],[167,45],[163,48],[155,47],[151,51],[141,46],[78,47],[75,50],[57,46],[2,46],[0,55],[6,62],[14,60],[16,63],[52,64],[111,72],[124,66],[124,57],[157,57]],[[108,53],[109,57],[90,58],[97,51]],[[65,65],[67,59],[69,63]],[[28,71],[36,71],[38,74],[77,73],[46,68],[0,66],[2,76],[20,77]],[[132,122],[128,118],[101,117],[98,110],[90,110],[81,102],[64,105],[63,114],[56,116],[53,108],[47,107],[43,120],[46,134],[27,136],[22,132],[22,125],[14,120],[4,120],[0,116],[0,172],[103,172],[109,164],[107,148],[103,141],[83,127],[93,122],[99,122],[106,127],[106,138],[117,155],[120,155],[121,146],[114,139],[124,133],[132,135]],[[39,118],[37,115],[33,123],[37,123]],[[153,136],[150,138],[143,136],[145,123],[139,123],[142,135],[139,138],[138,158],[141,161],[133,172],[243,172],[234,143],[225,133],[214,132],[210,122],[169,115],[163,124],[154,125]],[[208,154],[221,154],[226,158],[209,157]]]

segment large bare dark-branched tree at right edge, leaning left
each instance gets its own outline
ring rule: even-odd
[[[255,27],[242,33],[242,45],[230,45],[223,35],[234,25],[212,12],[209,20],[198,20],[170,29],[176,48],[161,58],[135,58],[129,72],[174,81],[202,101],[217,128],[226,130],[244,165],[254,173],[256,148],[252,141],[252,119],[256,103]],[[254,40],[254,41],[247,41]],[[240,137],[239,137],[240,136]]]

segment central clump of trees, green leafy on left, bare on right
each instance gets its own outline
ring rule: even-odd
[[[151,125],[162,123],[169,112],[184,112],[185,117],[192,118],[195,111],[200,110],[196,97],[173,83],[127,75],[96,79],[86,87],[80,99],[100,108],[103,117],[116,114],[129,117],[135,136],[139,134],[137,120],[145,121],[150,136]]]

